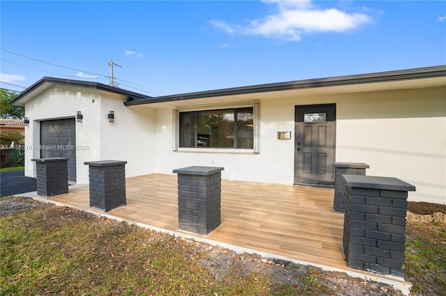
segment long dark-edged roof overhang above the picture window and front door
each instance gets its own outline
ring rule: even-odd
[[[148,97],[126,101],[125,106],[146,105],[151,108],[213,104],[222,101],[252,101],[274,99],[278,96],[346,94],[377,92],[415,88],[446,86],[446,65],[423,67],[390,72],[336,76],[322,79],[307,79],[283,83],[268,83],[240,88],[225,88],[204,92],[190,92],[162,97]]]

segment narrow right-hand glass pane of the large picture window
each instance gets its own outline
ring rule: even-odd
[[[254,114],[253,108],[237,109],[237,148],[252,149],[254,147]]]

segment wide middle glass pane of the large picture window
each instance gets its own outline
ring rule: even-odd
[[[197,114],[197,147],[234,147],[234,110]]]

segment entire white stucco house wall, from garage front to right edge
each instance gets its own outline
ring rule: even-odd
[[[295,106],[337,104],[336,161],[367,163],[368,175],[412,183],[417,191],[409,193],[409,200],[446,204],[445,95],[445,88],[430,88],[250,97],[252,104],[260,103],[261,114],[260,153],[255,154],[235,149],[173,151],[172,110],[177,106],[125,107],[126,98],[117,94],[56,85],[26,104],[30,120],[25,128],[26,146],[40,145],[41,120],[74,117],[80,110],[84,120],[76,123],[77,145],[90,149],[77,151],[77,183],[89,181],[84,161],[116,159],[128,161],[128,177],[172,174],[176,168],[205,165],[224,167],[224,179],[293,184]],[[194,104],[183,103],[179,109],[201,108]],[[209,109],[229,107],[224,98],[207,105]],[[107,120],[108,110],[114,110],[114,122]],[[278,140],[277,131],[292,131],[291,140]],[[26,176],[35,176],[31,158],[39,156],[38,150],[26,151]]]

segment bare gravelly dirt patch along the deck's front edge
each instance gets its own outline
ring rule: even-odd
[[[201,263],[217,280],[225,281],[237,272],[241,277],[251,277],[254,281],[268,277],[276,286],[299,287],[299,292],[294,291],[291,295],[403,295],[391,286],[349,277],[344,272],[325,272],[310,265],[267,259],[255,254],[238,254],[220,247],[210,248],[212,251],[201,259]],[[318,293],[315,294],[314,288]]]

